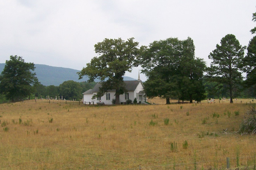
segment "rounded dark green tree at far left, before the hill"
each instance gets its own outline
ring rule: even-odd
[[[23,100],[33,93],[38,83],[34,63],[25,63],[20,56],[10,56],[0,75],[0,93],[11,101]]]

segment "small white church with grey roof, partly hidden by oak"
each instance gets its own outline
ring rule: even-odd
[[[140,79],[138,80],[131,80],[131,81],[124,81],[125,88],[127,90],[126,93],[119,96],[120,104],[125,104],[126,100],[133,100],[136,98],[138,103],[143,104],[146,101],[146,95],[144,92],[144,85]],[[116,90],[108,90],[102,97],[98,97],[96,99],[92,99],[94,94],[97,94],[99,91],[99,87],[101,87],[100,82],[98,82],[93,89],[89,89],[83,93],[83,103],[89,104],[96,104],[97,102],[104,102],[104,104],[112,104],[112,100],[116,99],[115,93]]]

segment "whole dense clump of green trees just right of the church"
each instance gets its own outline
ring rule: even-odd
[[[166,104],[170,104],[171,97],[201,101],[204,87],[200,79],[205,63],[195,58],[194,51],[190,37],[184,41],[168,38],[150,43],[142,59],[142,72],[148,77],[145,82],[147,96],[166,98]]]

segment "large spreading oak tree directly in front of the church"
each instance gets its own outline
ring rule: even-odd
[[[127,41],[118,39],[104,39],[95,44],[95,52],[99,54],[90,63],[86,64],[80,72],[79,78],[88,76],[89,82],[96,78],[100,80],[99,92],[95,97],[101,97],[107,90],[116,90],[116,104],[119,104],[119,95],[126,92],[123,76],[126,71],[140,64],[140,52],[143,47],[138,48],[138,42],[130,38]]]

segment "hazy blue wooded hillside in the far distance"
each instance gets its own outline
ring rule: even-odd
[[[2,73],[5,63],[0,63],[0,73]],[[48,65],[40,65],[35,64],[35,73],[36,76],[41,82],[42,85],[55,85],[59,86],[61,83],[73,80],[75,82],[85,82],[88,80],[87,77],[84,77],[81,80],[78,80],[78,71],[81,70],[74,70],[71,68],[63,68],[63,67],[54,67]],[[136,80],[131,77],[124,76],[124,80]]]

